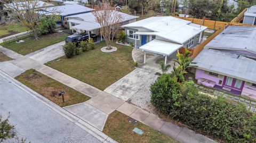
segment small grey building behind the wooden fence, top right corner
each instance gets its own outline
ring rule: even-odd
[[[252,24],[256,25],[256,5],[251,6],[247,11],[244,13],[244,24]]]

